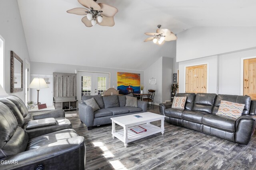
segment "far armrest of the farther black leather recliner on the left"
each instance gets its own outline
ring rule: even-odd
[[[50,111],[42,111],[38,113],[29,113],[33,116],[35,120],[37,119],[45,119],[45,118],[56,118],[56,117],[65,117],[65,112],[62,109],[55,109]]]

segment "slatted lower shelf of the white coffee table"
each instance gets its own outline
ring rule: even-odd
[[[156,133],[162,133],[164,134],[164,130],[161,129],[158,126],[152,125],[150,123],[147,124],[143,124],[143,125],[139,125],[140,127],[143,127],[145,129],[147,129],[146,132],[142,132],[142,133],[135,133],[134,131],[130,130],[132,127],[130,127],[127,131],[127,140],[124,140],[124,130],[120,130],[117,131],[115,133],[112,133],[112,137],[116,137],[118,138],[120,141],[122,141],[125,144],[125,147],[127,146],[127,143],[132,142],[132,141],[136,141],[138,139],[150,136],[150,135],[154,135]]]

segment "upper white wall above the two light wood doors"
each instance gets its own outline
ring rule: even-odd
[[[177,37],[177,62],[256,47],[256,27],[193,27]]]

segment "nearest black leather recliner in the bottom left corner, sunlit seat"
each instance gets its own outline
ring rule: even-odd
[[[0,169],[84,170],[84,137],[78,136],[73,129],[30,138],[18,126],[12,111],[1,102],[0,129]]]

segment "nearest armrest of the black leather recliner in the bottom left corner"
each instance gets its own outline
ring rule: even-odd
[[[69,167],[84,170],[85,150],[84,137],[72,137],[57,141],[47,147],[39,147],[2,158],[0,161],[3,163],[7,161],[13,161],[13,163],[0,164],[0,168],[33,170],[36,166],[43,165],[44,169],[67,169]]]

